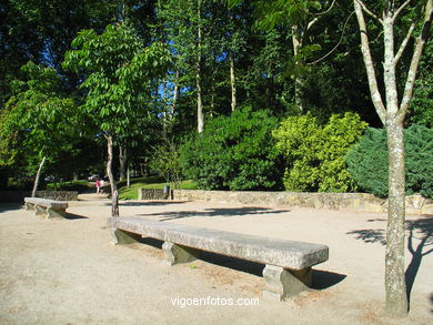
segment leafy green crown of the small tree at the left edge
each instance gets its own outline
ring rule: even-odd
[[[61,91],[54,69],[29,62],[22,67],[26,81],[14,81],[11,97],[0,114],[0,164],[16,163],[26,155],[37,165],[70,145],[74,103]],[[9,150],[9,152],[8,152]]]

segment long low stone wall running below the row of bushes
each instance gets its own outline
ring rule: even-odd
[[[296,206],[363,212],[386,212],[387,201],[365,193],[232,192],[173,190],[174,200],[208,201],[265,206]],[[432,214],[433,201],[421,195],[406,196],[406,212]]]

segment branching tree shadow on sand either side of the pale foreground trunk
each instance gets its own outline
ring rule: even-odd
[[[369,222],[385,222],[384,219],[369,220]],[[431,214],[423,215],[417,220],[406,221],[407,232],[407,251],[412,255],[412,260],[409,263],[405,271],[406,293],[407,299],[411,299],[411,292],[416,278],[416,274],[420,270],[422,258],[433,252],[433,216]],[[355,235],[356,240],[362,240],[365,243],[381,243],[386,245],[385,228],[369,228],[369,230],[354,230],[346,233],[348,235]],[[414,240],[419,243],[416,247]],[[433,311],[432,311],[433,312]]]

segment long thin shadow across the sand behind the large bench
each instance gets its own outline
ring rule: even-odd
[[[221,207],[221,209],[205,209],[204,211],[171,211],[162,213],[140,214],[145,216],[159,216],[162,221],[192,217],[192,216],[242,216],[254,214],[280,214],[286,213],[290,210],[273,210],[269,207]]]

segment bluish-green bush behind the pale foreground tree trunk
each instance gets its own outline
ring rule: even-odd
[[[433,130],[412,125],[404,130],[406,194],[433,197]],[[348,170],[359,186],[387,196],[387,145],[384,129],[369,128],[346,155]]]

